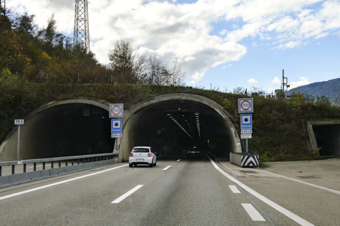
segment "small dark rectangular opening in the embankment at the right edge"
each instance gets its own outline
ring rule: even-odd
[[[340,124],[313,125],[320,156],[340,157]]]

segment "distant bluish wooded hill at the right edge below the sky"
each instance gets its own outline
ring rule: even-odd
[[[329,81],[315,82],[305,86],[299,86],[285,92],[286,95],[291,95],[294,91],[317,96],[326,96],[332,103],[339,103],[340,99],[340,78],[332,79]]]

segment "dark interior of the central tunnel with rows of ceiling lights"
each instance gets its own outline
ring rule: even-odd
[[[216,156],[229,156],[234,137],[225,119],[193,100],[165,100],[140,110],[131,127],[133,146],[151,146],[166,154],[197,146]]]

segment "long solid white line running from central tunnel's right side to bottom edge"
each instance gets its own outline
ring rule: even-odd
[[[301,226],[314,226],[313,224],[309,223],[308,221],[306,221],[305,219],[297,216],[296,214],[292,213],[291,211],[289,211],[288,209],[285,209],[279,205],[277,205],[276,203],[274,203],[273,201],[271,201],[270,199],[264,197],[263,195],[261,195],[260,193],[256,192],[255,190],[253,190],[252,188],[249,188],[248,186],[246,186],[245,184],[242,184],[240,181],[236,180],[234,177],[232,177],[231,175],[229,175],[228,173],[226,173],[225,171],[223,171],[222,169],[220,169],[216,163],[214,163],[214,161],[212,161],[211,157],[207,154],[210,162],[212,163],[212,165],[215,167],[215,169],[217,169],[220,173],[222,173],[225,177],[227,177],[229,180],[233,181],[235,184],[237,184],[238,186],[240,186],[241,188],[245,189],[246,191],[248,191],[249,193],[251,193],[252,195],[254,195],[256,198],[258,198],[259,200],[261,200],[262,202],[266,203],[267,205],[269,205],[270,207],[275,208],[277,211],[279,211],[280,213],[286,215],[287,217],[289,217],[290,219],[292,219],[293,221],[297,222],[297,224],[301,225]]]

